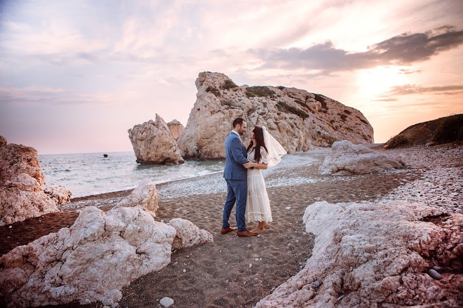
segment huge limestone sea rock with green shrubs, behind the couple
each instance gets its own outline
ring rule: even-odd
[[[202,72],[197,100],[178,144],[185,158],[224,158],[223,143],[237,117],[259,121],[289,152],[331,146],[337,140],[371,143],[364,115],[323,95],[285,87],[236,86],[224,74]]]

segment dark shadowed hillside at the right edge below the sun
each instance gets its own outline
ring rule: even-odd
[[[463,141],[463,114],[450,115],[408,126],[389,139],[385,148],[425,145],[432,146]]]

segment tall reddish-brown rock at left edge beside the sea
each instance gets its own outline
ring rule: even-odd
[[[0,225],[59,211],[43,185],[37,150],[14,143],[0,147]]]

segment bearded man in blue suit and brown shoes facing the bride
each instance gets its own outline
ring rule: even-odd
[[[236,224],[239,237],[256,236],[257,233],[249,232],[244,222],[247,198],[247,169],[243,164],[247,163],[246,147],[241,141],[242,134],[246,132],[246,122],[241,118],[233,121],[233,130],[225,139],[225,169],[223,177],[227,182],[227,199],[223,206],[223,224],[221,234],[236,231],[236,227],[230,227],[228,219],[231,209],[236,201]]]

